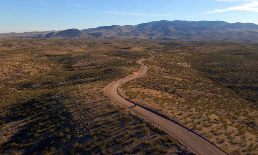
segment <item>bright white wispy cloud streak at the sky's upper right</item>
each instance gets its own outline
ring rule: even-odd
[[[258,12],[258,1],[252,1],[250,3],[245,3],[239,6],[234,6],[234,7],[228,7],[226,9],[215,9],[212,11],[206,11],[205,14],[211,14],[211,13],[217,13],[217,12],[226,12],[226,11],[253,11],[253,12]]]

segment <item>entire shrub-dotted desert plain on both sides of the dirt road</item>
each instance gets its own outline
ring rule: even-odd
[[[241,45],[242,50],[240,43],[227,42],[1,39],[0,153],[183,151],[162,129],[104,95],[110,82],[140,71],[135,60],[153,52],[158,57],[144,62],[148,74],[124,83],[122,95],[230,154],[256,154],[258,52],[252,43]]]

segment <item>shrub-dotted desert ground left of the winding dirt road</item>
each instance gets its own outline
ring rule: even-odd
[[[0,40],[0,154],[186,150],[178,143],[164,143],[160,137],[173,138],[104,95],[108,83],[139,71],[135,60],[149,57],[146,48],[160,45],[102,42]],[[132,48],[126,48],[128,44]]]

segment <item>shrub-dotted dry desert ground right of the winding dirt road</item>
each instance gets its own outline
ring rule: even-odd
[[[256,154],[258,147],[255,46],[212,43],[200,50],[151,48],[147,76],[122,85],[128,98],[165,112],[232,154]],[[190,52],[187,52],[190,51]],[[238,53],[241,53],[239,58]],[[240,151],[239,151],[240,150]]]

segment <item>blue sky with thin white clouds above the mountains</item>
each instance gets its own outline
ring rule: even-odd
[[[0,33],[137,25],[159,20],[258,24],[258,0],[0,0]]]

